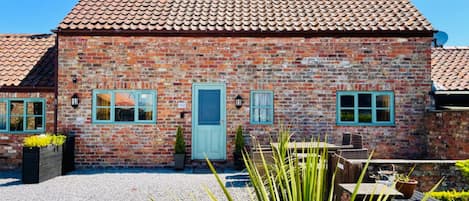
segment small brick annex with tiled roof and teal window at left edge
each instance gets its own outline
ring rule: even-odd
[[[0,34],[0,169],[21,164],[24,137],[56,128],[55,40]]]

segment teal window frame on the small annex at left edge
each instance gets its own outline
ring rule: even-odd
[[[11,119],[11,102],[23,101],[23,130],[22,131],[10,131],[10,119]],[[0,130],[2,133],[11,134],[28,134],[28,133],[44,133],[46,130],[46,100],[44,98],[0,98],[1,103],[6,103],[6,127]],[[42,103],[42,115],[28,115],[27,103]],[[27,129],[27,118],[28,117],[42,117],[42,129],[28,130]]]

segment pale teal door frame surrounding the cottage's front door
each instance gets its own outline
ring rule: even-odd
[[[220,102],[220,120],[223,122],[221,125],[222,126],[222,133],[221,133],[221,142],[222,144],[222,152],[223,152],[223,157],[221,160],[226,160],[226,83],[220,82],[220,83],[213,83],[213,82],[198,82],[198,83],[192,83],[192,134],[191,134],[191,159],[192,160],[198,160],[194,159],[194,153],[195,153],[195,138],[197,137],[197,133],[195,133],[196,129],[195,126],[197,124],[196,119],[197,119],[197,111],[196,111],[196,103],[198,103],[197,99],[198,96],[196,97],[196,91],[199,89],[220,89],[220,97],[221,97],[221,102]],[[197,107],[198,108],[198,107]],[[210,159],[210,158],[209,158]]]

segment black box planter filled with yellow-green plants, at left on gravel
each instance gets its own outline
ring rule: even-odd
[[[62,174],[64,135],[34,135],[24,139],[22,181],[39,183]]]

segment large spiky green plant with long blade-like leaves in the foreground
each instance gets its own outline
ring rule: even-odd
[[[258,201],[332,201],[334,195],[334,185],[332,184],[335,179],[335,171],[332,179],[328,180],[326,177],[327,148],[288,149],[290,137],[290,132],[282,127],[279,132],[279,145],[278,147],[272,147],[274,150],[272,156],[264,155],[262,149],[259,149],[261,152],[261,164],[256,164],[249,154],[243,153],[246,170],[251,180],[252,188],[249,188],[251,199]],[[311,143],[318,142],[313,139]],[[260,145],[258,146],[260,147]],[[296,157],[290,157],[295,156],[299,151],[306,153],[306,158],[303,161]],[[357,197],[357,192],[365,177],[371,155],[357,181],[358,185],[351,195],[351,201],[354,201]],[[266,157],[273,157],[274,163],[268,164]],[[208,159],[206,160],[226,199],[232,201],[233,197],[225,187],[223,180],[216,173],[212,163]],[[328,184],[331,185],[329,194],[326,194]],[[206,191],[212,201],[218,200],[210,189],[206,188]],[[254,195],[252,195],[253,193]],[[383,191],[380,192],[377,199],[373,197],[369,199],[381,201],[388,198],[389,195]],[[422,200],[427,200],[428,198],[427,196]]]

